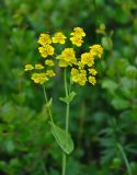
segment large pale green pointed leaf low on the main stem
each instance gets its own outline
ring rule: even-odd
[[[52,133],[55,137],[58,145],[61,148],[61,150],[70,154],[73,150],[73,141],[69,133],[66,133],[65,130],[56,126],[54,122],[49,122],[52,126]]]

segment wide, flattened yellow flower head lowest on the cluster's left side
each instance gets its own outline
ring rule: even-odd
[[[33,73],[31,79],[37,84],[44,84],[48,80],[46,73]]]

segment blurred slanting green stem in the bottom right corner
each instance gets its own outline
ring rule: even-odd
[[[132,168],[130,168],[130,165],[129,165],[129,162],[128,162],[128,159],[127,159],[127,156],[126,156],[126,153],[125,153],[122,144],[117,143],[117,148],[118,148],[118,150],[119,150],[119,152],[121,152],[121,154],[122,154],[122,156],[123,156],[123,160],[124,160],[124,162],[125,162],[125,165],[126,165],[128,175],[133,175]]]

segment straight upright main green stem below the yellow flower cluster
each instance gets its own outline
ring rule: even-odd
[[[65,69],[65,72],[64,72],[64,81],[65,81],[65,93],[66,93],[66,96],[69,95],[69,92],[68,92],[68,85],[67,85],[67,74],[66,74],[66,69]],[[68,135],[68,131],[69,131],[69,103],[67,103],[67,106],[66,106],[66,135]],[[62,152],[62,173],[61,175],[66,175],[66,164],[67,164],[67,155],[65,152]]]

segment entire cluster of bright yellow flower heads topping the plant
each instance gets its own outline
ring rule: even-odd
[[[72,45],[80,47],[83,44],[84,31],[81,27],[75,27],[70,33],[70,42]],[[43,33],[39,35],[38,47],[39,54],[43,58],[41,62],[36,65],[26,65],[25,71],[32,71],[31,79],[38,84],[44,84],[49,78],[56,75],[54,72],[55,63],[58,67],[69,67],[71,80],[73,83],[84,85],[87,82],[91,84],[96,83],[95,75],[98,71],[94,69],[94,61],[96,58],[101,58],[103,48],[101,45],[92,45],[89,51],[82,52],[80,57],[71,47],[64,47],[60,54],[57,54],[56,45],[65,45],[67,37],[61,32],[57,32],[53,37]],[[53,69],[52,69],[53,68]]]

